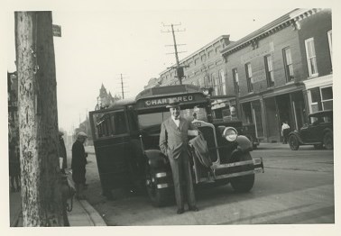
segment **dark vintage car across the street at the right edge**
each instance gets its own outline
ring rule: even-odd
[[[290,132],[291,150],[299,150],[300,145],[314,145],[315,149],[325,147],[332,150],[333,145],[333,111],[326,110],[309,114],[309,123],[299,131]]]

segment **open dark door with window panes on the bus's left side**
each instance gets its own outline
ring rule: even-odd
[[[103,190],[130,185],[130,135],[125,110],[94,112],[91,115],[97,167]]]

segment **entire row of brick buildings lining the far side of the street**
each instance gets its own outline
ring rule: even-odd
[[[258,138],[281,141],[282,122],[300,129],[309,113],[333,107],[331,10],[295,9],[235,42],[223,35],[180,65],[188,66],[183,84],[237,97],[217,99],[216,118],[237,106]],[[162,71],[153,83],[179,84],[175,68]]]

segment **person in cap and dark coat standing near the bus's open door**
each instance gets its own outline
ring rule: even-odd
[[[84,142],[88,138],[85,132],[78,132],[77,140],[72,145],[72,179],[76,186],[76,197],[78,199],[85,199],[83,194],[86,183],[86,165],[87,153],[84,150]]]

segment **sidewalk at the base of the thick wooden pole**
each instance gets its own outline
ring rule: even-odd
[[[20,192],[10,193],[10,226],[23,227]],[[69,201],[68,201],[69,203]],[[106,226],[106,222],[86,200],[73,198],[72,211],[68,213],[70,226]]]

